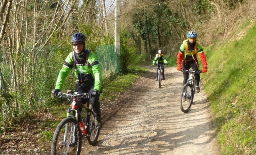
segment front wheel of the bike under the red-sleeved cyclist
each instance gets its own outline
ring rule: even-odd
[[[180,94],[180,109],[182,112],[187,113],[193,102],[193,85],[190,83],[186,83],[181,89]]]

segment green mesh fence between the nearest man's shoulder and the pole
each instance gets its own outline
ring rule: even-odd
[[[103,76],[120,71],[120,54],[115,53],[114,45],[97,46],[96,54]]]

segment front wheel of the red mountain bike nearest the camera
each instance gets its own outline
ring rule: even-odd
[[[79,155],[82,133],[74,118],[63,119],[57,126],[52,138],[52,155]]]

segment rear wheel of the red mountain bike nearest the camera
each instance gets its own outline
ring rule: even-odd
[[[92,110],[92,105],[90,104],[90,109]],[[96,129],[95,127],[95,117],[93,116],[93,114],[87,110],[87,120],[88,122],[87,124],[87,141],[90,145],[94,145],[96,144],[99,135],[100,135],[100,130]]]

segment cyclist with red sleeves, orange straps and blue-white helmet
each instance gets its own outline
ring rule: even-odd
[[[197,33],[195,31],[190,31],[187,34],[188,39],[184,40],[180,45],[180,51],[178,52],[177,58],[177,70],[181,71],[182,69],[188,70],[190,67],[194,71],[199,70],[197,54],[202,61],[203,69],[202,73],[207,72],[207,62],[203,52],[202,46],[196,42]],[[182,63],[182,65],[181,65]],[[188,73],[183,72],[183,85],[187,83]],[[200,75],[195,74],[195,83],[196,83],[196,93],[200,92],[199,87]]]

